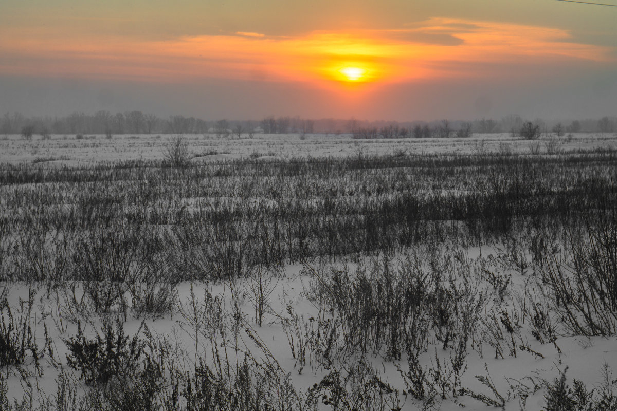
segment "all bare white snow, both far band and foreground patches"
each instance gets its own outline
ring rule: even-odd
[[[17,136],[9,136],[6,140],[0,141],[0,163],[10,164],[27,164],[32,165],[37,158],[50,158],[50,160],[37,160],[34,163],[36,168],[55,169],[63,167],[81,167],[94,165],[98,161],[109,160],[136,160],[136,159],[162,159],[163,149],[167,144],[168,136],[140,135],[138,138],[128,139],[123,136],[115,136],[111,140],[105,139],[103,136],[95,136],[94,139],[75,140],[70,137],[52,136],[49,140],[32,140],[22,141]],[[512,139],[508,134],[487,135],[473,137],[472,139],[395,139],[395,140],[353,140],[349,135],[342,134],[341,136],[321,136],[309,135],[305,139],[300,140],[296,135],[267,135],[256,134],[252,139],[230,139],[230,140],[213,140],[203,139],[200,136],[187,136],[189,139],[190,150],[194,153],[205,152],[206,150],[216,151],[218,154],[198,155],[191,161],[194,164],[207,164],[222,161],[231,161],[238,158],[248,158],[251,153],[267,153],[257,157],[257,160],[268,161],[283,161],[294,157],[307,156],[358,156],[358,155],[373,155],[373,154],[395,154],[400,150],[405,150],[407,154],[413,153],[478,153],[479,140],[486,140],[486,144],[482,146],[482,150],[486,152],[499,150],[500,144],[509,144],[511,150],[515,153],[529,152],[529,142],[519,139]],[[617,138],[605,138],[605,136],[587,134],[575,134],[570,139],[566,139],[561,146],[563,149],[592,149],[594,147],[615,147]],[[274,154],[270,154],[273,152]],[[54,160],[54,158],[62,157],[63,160]],[[196,201],[196,199],[193,199]],[[262,199],[263,200],[263,199]],[[187,199],[188,202],[189,199]],[[508,267],[502,260],[502,256],[497,251],[497,245],[493,248],[470,248],[460,250],[470,259],[470,266],[480,264],[482,261],[499,261],[502,264],[495,263],[492,269],[495,270],[495,275],[512,275],[512,282],[508,293],[510,301],[506,301],[497,309],[510,310],[515,312],[520,309],[516,301],[516,296],[522,295],[522,289],[529,282],[529,275],[523,275],[520,272]],[[369,257],[366,257],[367,259]],[[328,273],[339,269],[345,261],[337,261],[333,264],[324,262],[320,266],[322,273]],[[350,264],[349,270],[353,271],[354,265]],[[284,332],[283,324],[286,321],[292,320],[292,313],[299,316],[302,322],[309,325],[318,317],[332,318],[333,313],[324,313],[313,304],[307,295],[311,290],[318,285],[318,279],[310,275],[310,270],[307,270],[302,264],[286,265],[278,269],[276,279],[273,281],[273,291],[267,298],[267,309],[262,325],[258,325],[256,321],[255,309],[253,303],[255,301],[255,293],[251,289],[250,279],[236,279],[220,283],[179,283],[175,289],[177,292],[175,309],[171,314],[165,315],[164,318],[135,318],[132,315],[130,295],[126,295],[125,301],[128,307],[126,320],[123,319],[121,309],[111,309],[107,314],[93,314],[89,316],[81,316],[75,313],[75,318],[83,320],[83,328],[89,335],[94,335],[93,330],[100,330],[104,319],[109,320],[111,317],[120,317],[128,335],[133,335],[138,332],[142,322],[146,324],[152,335],[165,336],[170,341],[178,341],[178,349],[183,348],[184,358],[187,366],[190,368],[191,361],[196,355],[196,350],[209,355],[212,347],[209,342],[202,338],[199,340],[199,332],[192,328],[188,321],[193,297],[197,303],[204,303],[205,296],[212,298],[220,298],[225,314],[227,326],[231,327],[231,320],[236,314],[235,307],[239,309],[241,316],[242,328],[249,330],[263,341],[268,352],[264,352],[259,347],[255,346],[254,341],[250,338],[249,333],[239,332],[235,336],[231,332],[231,328],[227,331],[230,341],[219,341],[228,348],[239,348],[241,351],[251,352],[258,359],[268,360],[268,355],[272,355],[281,365],[284,372],[291,373],[291,380],[297,389],[306,391],[313,384],[318,383],[321,378],[327,373],[322,365],[318,364],[317,359],[313,361],[307,360],[302,373],[299,372],[296,360],[292,357],[289,347],[288,338]],[[478,280],[478,279],[476,279]],[[275,285],[274,285],[275,284]],[[43,393],[54,393],[57,387],[58,376],[65,372],[72,374],[75,380],[79,378],[78,372],[73,372],[67,367],[67,346],[63,342],[77,332],[77,324],[69,318],[67,307],[68,288],[67,285],[47,290],[49,284],[38,283],[28,285],[25,283],[4,283],[2,290],[7,298],[7,302],[14,312],[19,311],[20,301],[28,300],[28,292],[30,287],[35,287],[36,295],[34,297],[35,306],[31,312],[31,324],[35,325],[34,330],[36,342],[39,347],[44,346],[45,337],[43,333],[43,325],[48,328],[49,337],[54,342],[55,359],[58,364],[52,364],[48,357],[44,357],[42,362],[43,375],[36,376],[34,372],[34,362],[31,357],[28,357],[27,365],[31,370],[30,378],[20,377],[20,373],[15,368],[5,368],[2,373],[9,373],[7,378],[9,382],[9,398],[16,397],[20,399],[25,391],[24,383],[30,381],[33,386],[39,388]],[[75,283],[78,295],[82,292],[82,284]],[[488,287],[486,282],[477,282],[478,287]],[[199,306],[199,304],[197,304]],[[485,311],[490,311],[494,307],[492,303],[488,303]],[[184,314],[182,314],[184,312]],[[486,315],[486,312],[484,313]],[[519,315],[521,313],[519,312]],[[304,324],[302,324],[304,326]],[[200,327],[201,325],[197,325]],[[584,337],[584,336],[560,336],[553,343],[540,344],[536,341],[531,333],[529,324],[522,324],[521,335],[524,341],[528,344],[529,349],[542,354],[544,358],[537,357],[532,352],[526,352],[518,349],[516,356],[504,353],[504,358],[496,358],[495,350],[486,342],[483,343],[482,356],[477,350],[467,349],[466,356],[467,369],[463,375],[461,386],[476,393],[484,393],[487,396],[493,396],[491,390],[483,385],[476,376],[486,376],[487,370],[490,373],[492,381],[497,391],[506,397],[508,391],[511,391],[511,386],[516,385],[516,381],[521,383],[529,383],[526,378],[535,378],[536,381],[544,379],[552,381],[557,378],[560,372],[568,367],[566,376],[568,377],[569,385],[572,385],[573,378],[584,381],[587,386],[601,386],[603,384],[602,368],[608,365],[613,372],[617,370],[617,338],[616,336],[608,337]],[[434,335],[429,337],[429,349],[421,356],[421,365],[434,367],[436,357],[441,361],[449,358],[452,354],[452,349],[444,350],[441,341],[437,341]],[[507,336],[509,338],[509,336]],[[232,341],[233,340],[233,341]],[[517,344],[518,345],[518,344]],[[232,350],[233,351],[233,350]],[[231,352],[231,351],[230,351]],[[268,354],[269,353],[269,354]],[[405,357],[401,360],[387,360],[381,355],[370,354],[367,356],[368,361],[379,370],[384,382],[391,384],[399,389],[405,389],[401,375],[397,367],[407,369]],[[443,363],[442,363],[443,364]],[[36,378],[35,378],[36,376]],[[81,384],[81,392],[85,392],[85,385]],[[531,394],[526,400],[526,409],[536,410],[544,407],[544,389],[539,389],[537,393]],[[405,402],[405,410],[415,410],[416,405],[420,407],[420,402],[407,397]],[[456,399],[447,398],[439,401],[438,407],[443,410],[458,410],[464,405],[466,409],[486,409],[486,405],[471,398],[470,396],[459,396]],[[324,405],[321,405],[326,409]],[[521,409],[519,399],[511,399],[505,404],[506,410]]]

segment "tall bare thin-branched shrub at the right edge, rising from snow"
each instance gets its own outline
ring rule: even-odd
[[[617,332],[617,199],[612,184],[598,185],[582,229],[566,228],[565,255],[547,251],[542,267],[545,293],[573,335]]]

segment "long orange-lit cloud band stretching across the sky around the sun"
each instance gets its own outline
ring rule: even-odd
[[[581,62],[615,64],[612,47],[577,43],[560,28],[431,18],[394,30],[313,31],[304,36],[184,36],[0,39],[0,74],[186,83],[260,79],[336,86],[344,67],[375,83],[427,79],[511,78]],[[268,73],[256,76],[255,73]]]

